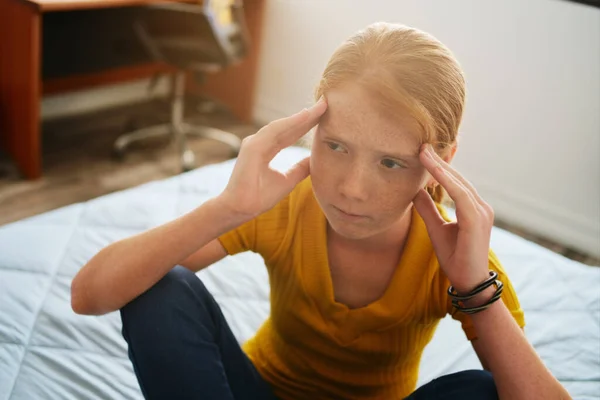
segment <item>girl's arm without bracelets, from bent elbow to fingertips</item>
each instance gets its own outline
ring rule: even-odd
[[[224,257],[220,235],[274,207],[308,176],[308,158],[285,173],[269,163],[315,126],[326,109],[321,100],[248,136],[223,193],[182,217],[102,249],[73,279],[73,310],[95,315],[118,310],[178,263],[199,270]]]

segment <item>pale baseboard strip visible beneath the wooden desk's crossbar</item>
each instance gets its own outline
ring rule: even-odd
[[[149,79],[142,79],[101,88],[45,96],[41,105],[41,118],[48,120],[69,117],[168,95],[168,79],[159,79],[152,92],[148,91],[149,83]]]

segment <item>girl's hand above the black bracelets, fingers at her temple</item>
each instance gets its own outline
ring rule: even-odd
[[[419,191],[413,203],[427,226],[440,267],[458,293],[468,293],[489,278],[488,254],[494,211],[431,145],[423,145],[419,157],[454,200],[456,222],[442,218],[425,189]]]

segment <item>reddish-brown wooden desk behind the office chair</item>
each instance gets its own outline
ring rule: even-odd
[[[131,7],[160,1],[0,0],[0,145],[25,178],[36,179],[42,175],[40,103],[44,94],[142,79],[157,72],[170,71],[166,65],[142,64],[42,82],[43,14]],[[201,90],[228,105],[238,118],[250,121],[260,51],[263,0],[247,0],[244,9],[252,37],[248,57],[239,65],[209,77]]]

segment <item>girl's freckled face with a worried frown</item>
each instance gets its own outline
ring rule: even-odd
[[[428,178],[417,135],[376,101],[355,84],[329,91],[312,144],[315,197],[331,228],[349,239],[391,228]]]

